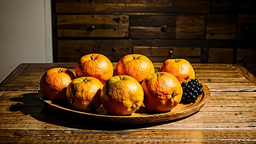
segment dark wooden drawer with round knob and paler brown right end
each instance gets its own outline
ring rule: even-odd
[[[205,15],[130,16],[130,37],[202,39],[205,18]]]

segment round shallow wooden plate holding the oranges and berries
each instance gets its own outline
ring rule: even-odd
[[[38,96],[46,106],[50,106],[51,108],[53,108],[53,110],[63,114],[75,115],[87,119],[97,119],[122,123],[154,123],[181,119],[199,111],[210,98],[209,88],[204,83],[202,83],[202,85],[203,96],[198,97],[195,103],[178,104],[176,107],[168,112],[151,111],[147,109],[144,104],[142,104],[142,106],[135,113],[125,116],[112,115],[108,113],[103,108],[103,106],[99,107],[95,111],[78,111],[74,109],[71,105],[69,105],[66,100],[54,101],[48,99],[46,96],[43,96],[40,91],[38,93]]]

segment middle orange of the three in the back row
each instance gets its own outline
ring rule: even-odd
[[[154,72],[154,65],[150,59],[139,54],[130,54],[122,57],[115,67],[115,75],[129,75],[138,82],[142,82]]]

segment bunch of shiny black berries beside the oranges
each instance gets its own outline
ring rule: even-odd
[[[198,82],[198,79],[191,79],[188,82],[182,82],[181,86],[183,88],[183,95],[181,103],[195,103],[198,96],[203,93],[203,85]]]

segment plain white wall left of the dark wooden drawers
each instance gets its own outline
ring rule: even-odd
[[[52,62],[50,0],[0,0],[0,81],[20,63]]]

